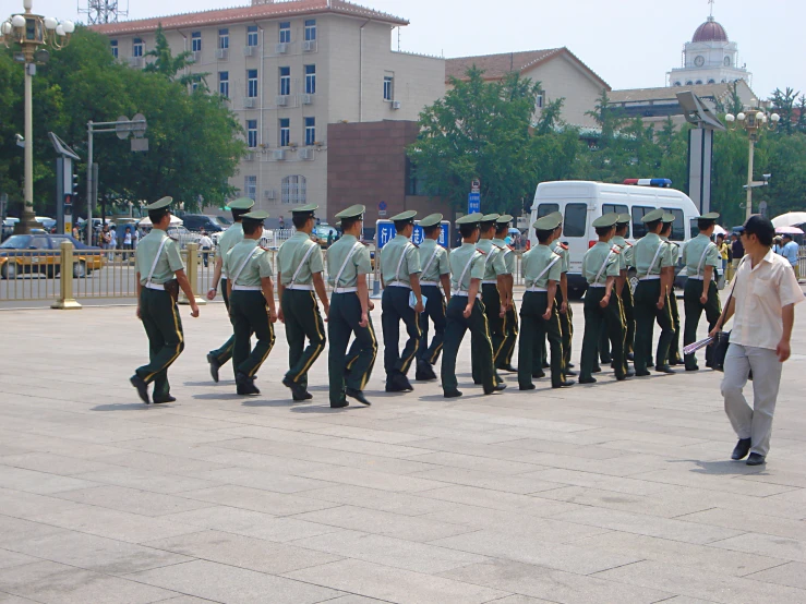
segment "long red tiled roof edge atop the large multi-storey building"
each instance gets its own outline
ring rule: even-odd
[[[164,29],[184,27],[203,27],[225,23],[239,23],[261,19],[282,16],[303,16],[313,14],[340,14],[362,19],[373,19],[395,25],[408,25],[405,19],[368,9],[345,0],[291,0],[290,2],[269,2],[233,9],[218,9],[197,13],[184,13],[120,23],[93,25],[91,29],[104,35],[140,34],[156,31],[161,24]]]

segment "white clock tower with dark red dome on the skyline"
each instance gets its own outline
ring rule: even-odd
[[[697,27],[691,41],[685,44],[683,65],[666,74],[669,85],[724,84],[736,80],[749,85],[753,74],[737,64],[737,56],[736,43],[727,39],[727,32],[711,14]]]

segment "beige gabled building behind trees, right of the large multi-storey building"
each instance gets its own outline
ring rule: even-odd
[[[515,71],[532,82],[540,82],[541,90],[534,99],[536,120],[540,118],[543,107],[563,98],[561,118],[565,122],[584,128],[596,126],[587,112],[593,109],[602,89],[611,89],[604,80],[567,48],[448,59],[445,65],[446,85],[450,87],[450,77],[465,80],[467,70],[473,65],[484,71],[488,81],[500,81]]]

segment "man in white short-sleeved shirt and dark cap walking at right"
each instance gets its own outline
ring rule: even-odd
[[[795,304],[804,295],[785,258],[771,250],[775,228],[768,218],[751,216],[742,243],[745,256],[733,279],[731,301],[711,335],[735,317],[724,362],[722,396],[725,413],[738,436],[731,456],[747,466],[765,463],[770,449],[772,415],[781,384],[781,369],[790,358]],[[753,407],[743,389],[753,372]]]

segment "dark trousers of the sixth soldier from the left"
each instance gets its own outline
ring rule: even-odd
[[[388,378],[393,373],[400,372],[404,375],[409,371],[411,361],[414,360],[417,349],[420,346],[420,315],[409,306],[408,288],[387,287],[381,298],[381,328],[384,333],[384,370]],[[402,353],[400,352],[400,322],[406,324],[406,340]]]

